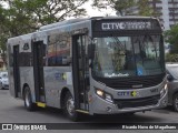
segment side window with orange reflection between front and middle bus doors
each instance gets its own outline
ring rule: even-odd
[[[48,45],[48,65],[49,66],[63,66],[70,65],[70,45],[71,38],[68,33],[52,34],[49,37]]]

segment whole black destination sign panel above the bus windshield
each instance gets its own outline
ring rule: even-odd
[[[161,31],[161,27],[158,20],[147,19],[147,20],[97,20],[92,23],[93,34],[99,34],[103,31],[149,31],[154,30],[156,32]],[[97,33],[98,32],[98,33]],[[100,32],[100,33],[99,33]]]

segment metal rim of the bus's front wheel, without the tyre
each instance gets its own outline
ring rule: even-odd
[[[69,98],[67,101],[67,111],[68,111],[69,115],[75,114],[75,101],[72,98]]]

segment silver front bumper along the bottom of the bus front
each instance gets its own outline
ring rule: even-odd
[[[127,113],[127,112],[140,112],[140,111],[150,111],[155,109],[161,109],[167,106],[168,104],[168,90],[166,90],[166,93],[158,100],[156,104],[150,105],[141,105],[141,106],[135,106],[135,108],[122,108],[119,109],[118,104],[115,102],[107,102],[106,100],[99,98],[98,95],[95,95],[93,102],[92,102],[92,111],[90,114],[118,114],[118,113]]]

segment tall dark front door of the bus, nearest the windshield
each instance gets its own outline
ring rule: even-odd
[[[73,86],[75,86],[75,103],[77,109],[88,110],[88,64],[86,55],[86,35],[73,35],[72,37],[72,74],[73,74]],[[83,103],[81,106],[80,103]]]

